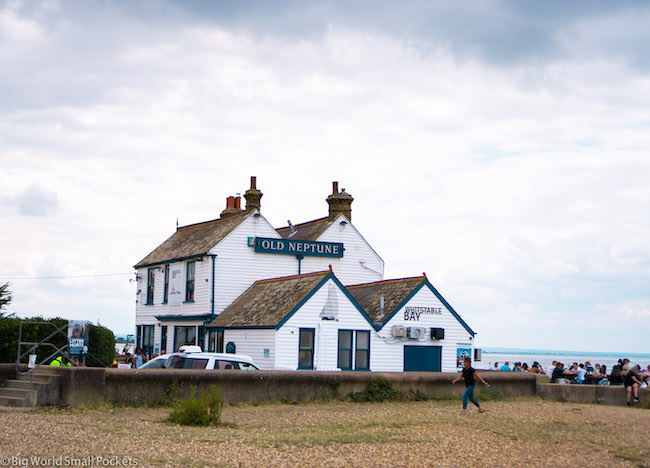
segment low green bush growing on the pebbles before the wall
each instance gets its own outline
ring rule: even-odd
[[[196,387],[193,386],[190,396],[176,404],[167,421],[183,426],[218,426],[222,410],[223,397],[214,385],[210,386],[210,393],[204,394],[200,400],[196,397]]]

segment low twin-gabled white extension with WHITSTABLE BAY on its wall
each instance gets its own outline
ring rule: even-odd
[[[474,338],[426,276],[345,287],[331,271],[256,281],[207,328],[261,369],[455,371]]]

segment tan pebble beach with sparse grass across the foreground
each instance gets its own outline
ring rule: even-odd
[[[0,466],[42,457],[49,466],[650,467],[650,410],[539,399],[484,407],[226,406],[225,425],[212,428],[165,423],[170,410],[160,408],[0,408]]]

